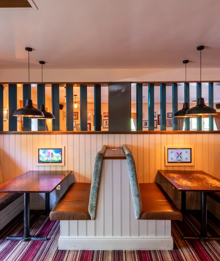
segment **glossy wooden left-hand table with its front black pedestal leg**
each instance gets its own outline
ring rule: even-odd
[[[21,237],[8,236],[7,240],[47,241],[46,236],[30,235],[30,193],[51,193],[71,172],[72,170],[30,170],[0,185],[0,192],[24,193],[24,234]]]

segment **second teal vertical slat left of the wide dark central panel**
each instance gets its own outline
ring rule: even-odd
[[[80,84],[80,130],[87,130],[87,85]]]

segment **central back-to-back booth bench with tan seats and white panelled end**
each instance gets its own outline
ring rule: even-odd
[[[173,249],[171,220],[182,213],[159,184],[138,184],[126,145],[109,150],[123,157],[104,157],[103,145],[92,182],[71,184],[51,210],[60,220],[58,249]]]

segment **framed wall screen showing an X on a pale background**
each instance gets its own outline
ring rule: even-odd
[[[165,166],[194,166],[194,147],[165,146]]]

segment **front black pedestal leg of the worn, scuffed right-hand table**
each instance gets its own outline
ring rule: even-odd
[[[208,237],[207,235],[207,192],[201,191],[201,236],[183,236],[183,240],[200,240],[209,242],[212,240],[220,240],[220,237]]]

